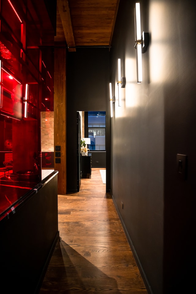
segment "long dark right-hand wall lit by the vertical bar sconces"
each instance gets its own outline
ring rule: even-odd
[[[134,4],[120,1],[110,51],[116,97],[111,193],[149,292],[188,293],[194,281],[196,11],[194,1],[140,1],[150,45],[137,84]],[[126,78],[121,107],[118,58]],[[177,176],[177,153],[188,156],[187,180]]]

